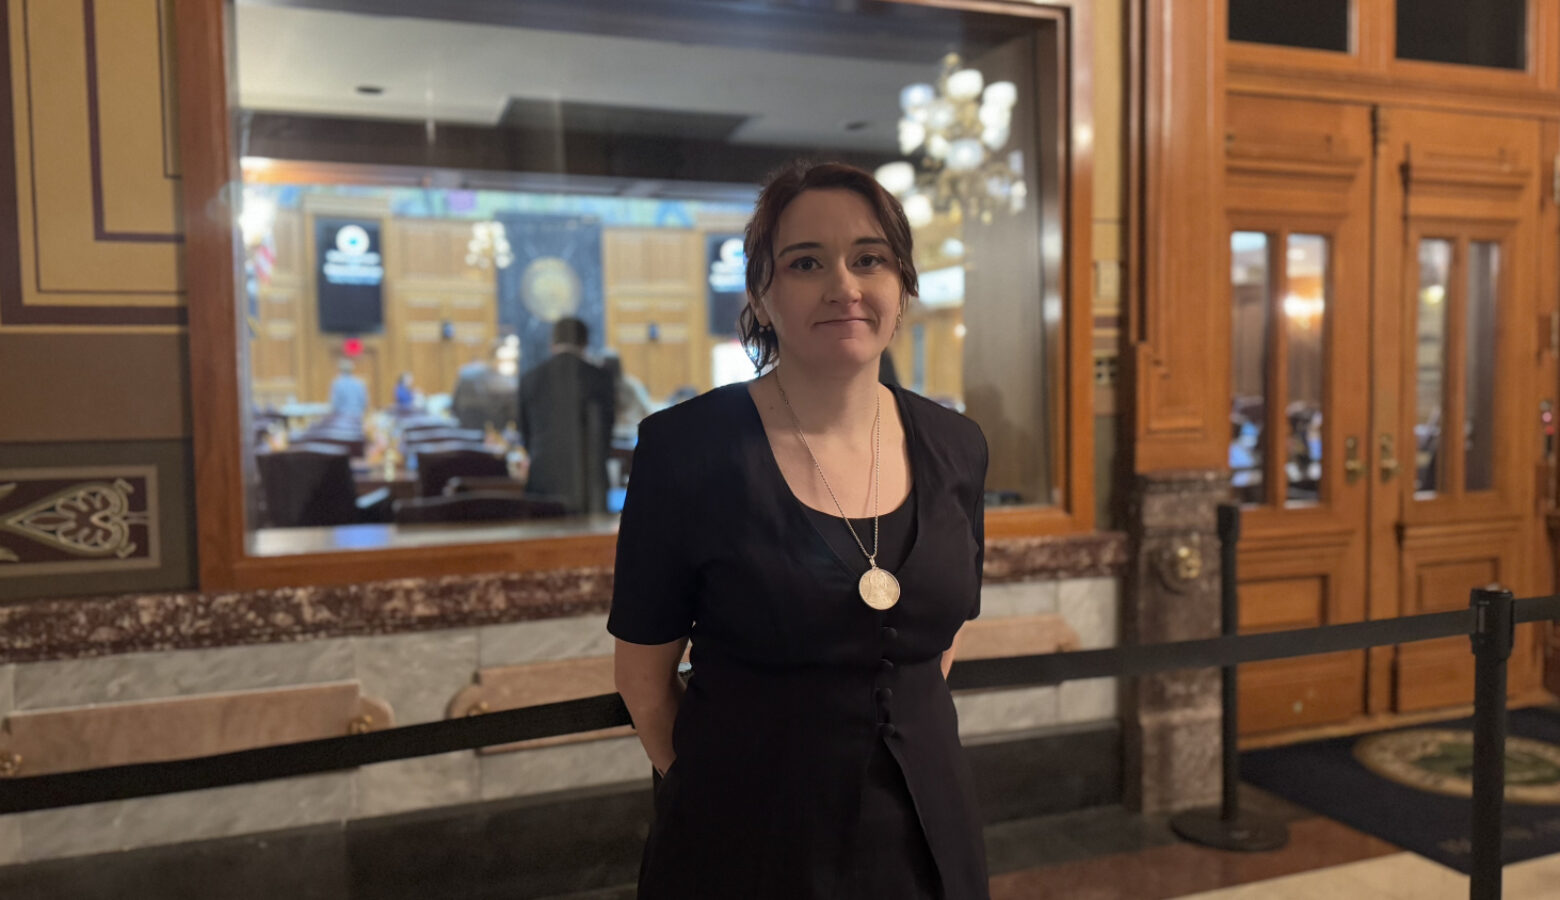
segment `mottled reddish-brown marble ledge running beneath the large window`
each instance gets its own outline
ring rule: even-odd
[[[1115,532],[1000,538],[987,541],[986,580],[1119,577],[1126,562],[1126,537]],[[0,664],[601,616],[610,602],[612,571],[602,568],[20,601],[0,605]],[[563,629],[548,643],[568,654],[601,640]],[[484,664],[548,652],[521,649],[526,641],[523,630],[495,635]]]

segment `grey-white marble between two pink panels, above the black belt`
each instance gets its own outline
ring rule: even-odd
[[[396,725],[445,718],[449,699],[477,669],[477,630],[353,638],[363,694],[390,703]]]

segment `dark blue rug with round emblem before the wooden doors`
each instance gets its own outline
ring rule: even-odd
[[[1560,853],[1560,710],[1513,710],[1502,858]],[[1240,755],[1240,778],[1345,825],[1468,872],[1473,721]]]

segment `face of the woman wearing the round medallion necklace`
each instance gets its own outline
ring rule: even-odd
[[[903,287],[883,226],[844,189],[797,195],[775,229],[774,281],[755,304],[780,357],[830,371],[877,367],[894,337]]]

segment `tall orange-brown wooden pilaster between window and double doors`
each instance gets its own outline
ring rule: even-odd
[[[1133,462],[1137,471],[1223,468],[1225,3],[1139,0],[1133,14]]]

